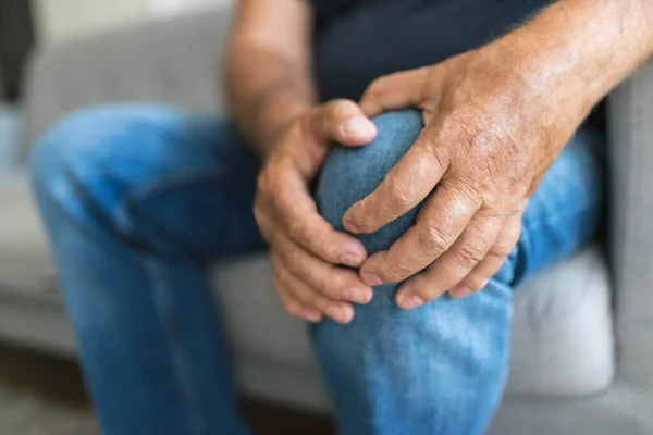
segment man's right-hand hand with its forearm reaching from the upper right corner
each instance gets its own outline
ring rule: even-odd
[[[375,80],[372,116],[417,107],[426,128],[343,219],[371,233],[427,198],[417,223],[360,275],[408,278],[406,309],[486,284],[520,233],[526,201],[589,111],[653,54],[652,0],[559,0],[481,49]]]

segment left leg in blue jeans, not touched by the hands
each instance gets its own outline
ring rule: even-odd
[[[246,434],[200,261],[262,247],[254,156],[219,120],[119,105],[69,116],[32,163],[103,432]]]

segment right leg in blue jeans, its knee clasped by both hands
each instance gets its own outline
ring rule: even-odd
[[[422,128],[416,111],[375,121],[379,135],[361,149],[336,148],[317,187],[322,214],[342,216],[371,192]],[[554,163],[523,216],[518,246],[482,290],[443,296],[412,310],[396,308],[397,285],[379,286],[349,325],[325,321],[312,339],[336,408],[341,433],[481,434],[501,400],[507,372],[512,295],[516,283],[587,241],[600,215],[595,140],[579,133]],[[418,206],[361,240],[386,249],[414,222]]]

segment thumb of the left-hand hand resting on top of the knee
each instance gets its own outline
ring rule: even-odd
[[[313,137],[323,142],[361,146],[377,136],[374,124],[352,100],[331,100],[319,107],[308,122]]]

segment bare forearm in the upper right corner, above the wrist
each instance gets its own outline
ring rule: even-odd
[[[575,99],[581,120],[653,54],[653,0],[559,0],[495,45],[519,58],[533,94]]]

